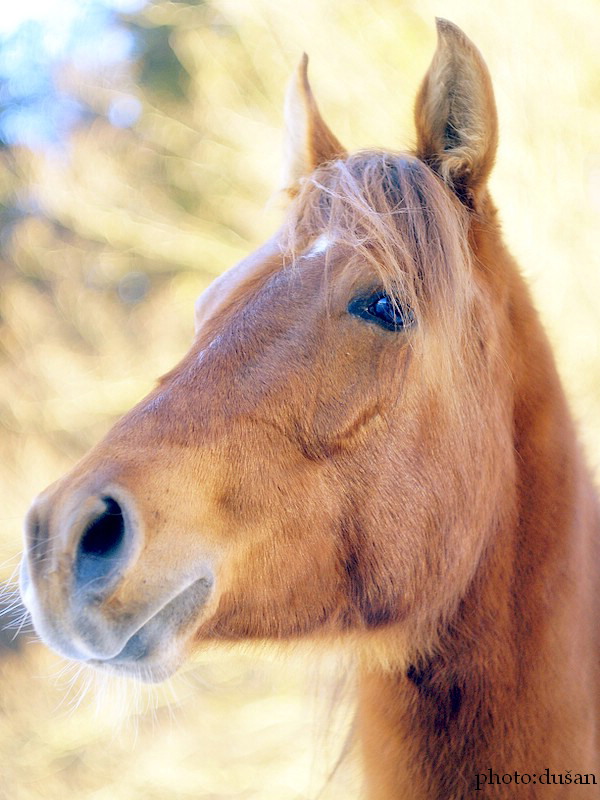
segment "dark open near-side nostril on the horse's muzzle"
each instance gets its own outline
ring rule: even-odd
[[[88,523],[75,556],[75,576],[85,583],[112,575],[125,555],[123,510],[112,497],[102,502],[104,510]]]

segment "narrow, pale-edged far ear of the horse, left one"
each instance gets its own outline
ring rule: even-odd
[[[321,117],[307,70],[308,56],[304,53],[285,98],[283,187],[291,194],[301,178],[321,164],[346,155]]]

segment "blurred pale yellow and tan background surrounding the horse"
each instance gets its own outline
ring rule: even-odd
[[[277,225],[302,51],[347,147],[409,147],[435,15],[490,67],[493,193],[597,470],[598,0],[3,3],[1,584],[31,498],[183,355],[196,296]],[[351,712],[335,666],[214,651],[166,688],[98,687],[19,629],[11,602],[8,588],[0,798],[358,797],[349,763],[323,790]]]

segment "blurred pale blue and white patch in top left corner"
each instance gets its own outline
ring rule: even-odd
[[[3,9],[0,141],[33,150],[64,146],[73,127],[93,112],[69,84],[77,77],[122,80],[115,68],[126,68],[136,37],[121,15],[144,6],[141,0],[29,0],[11,3],[7,14]],[[122,119],[117,112],[121,127]]]

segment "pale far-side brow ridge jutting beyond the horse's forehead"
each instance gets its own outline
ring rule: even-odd
[[[261,274],[269,275],[280,266],[281,245],[278,236],[269,239],[262,247],[235,264],[208,286],[197,298],[194,306],[196,331],[204,320],[240,290],[244,284]]]

